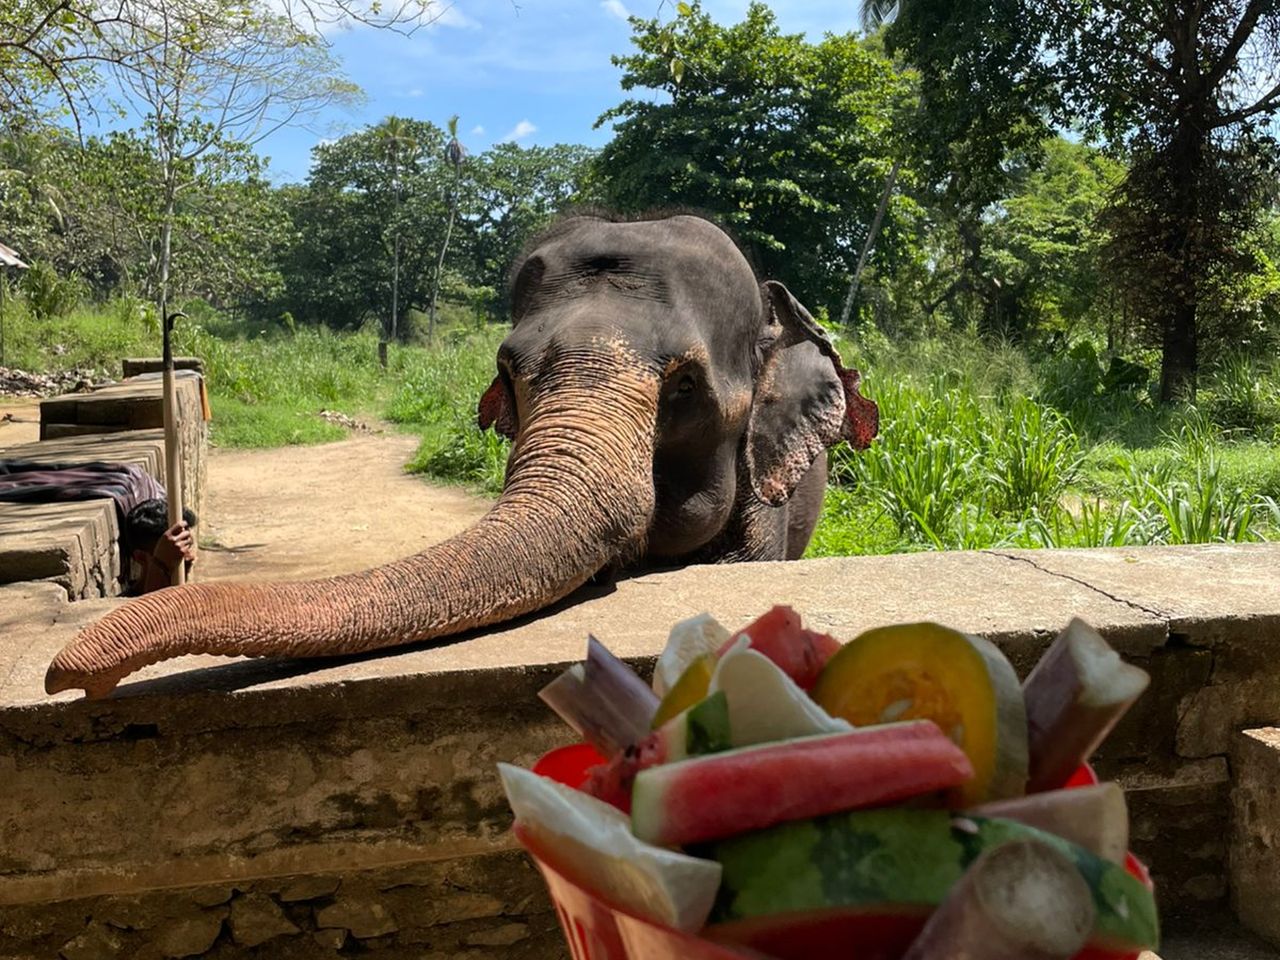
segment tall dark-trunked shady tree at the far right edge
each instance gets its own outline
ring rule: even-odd
[[[1274,182],[1277,38],[1271,0],[909,0],[888,29],[923,76],[924,173],[972,209],[1053,123],[1129,157],[1111,262],[1165,401],[1194,396],[1202,328]]]

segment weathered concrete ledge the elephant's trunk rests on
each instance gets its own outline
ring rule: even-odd
[[[648,668],[676,620],[708,611],[741,625],[772,603],[842,639],[938,620],[991,637],[1023,673],[1070,617],[1093,623],[1156,677],[1097,765],[1132,790],[1134,847],[1156,868],[1162,909],[1194,914],[1228,893],[1226,750],[1212,748],[1233,731],[1219,733],[1215,718],[1268,713],[1267,701],[1239,698],[1280,689],[1277,570],[1272,545],[691,567],[380,657],[156,664],[99,703],[46,698],[41,682],[54,653],[114,602],[0,589],[0,922],[70,900],[261,892],[279,877],[504,854],[509,815],[494,764],[527,764],[567,742],[536,691],[582,657],[589,631]],[[1192,620],[1194,634],[1174,628]],[[1196,714],[1202,739],[1180,753],[1207,690],[1217,708]],[[1254,722],[1276,719],[1280,710]],[[539,904],[516,923],[534,929],[527,916],[548,909]]]

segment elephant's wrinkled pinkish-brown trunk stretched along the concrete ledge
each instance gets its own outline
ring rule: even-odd
[[[403,561],[296,584],[193,584],[147,594],[54,658],[50,694],[104,696],[183,654],[330,657],[498,623],[568,595],[643,543],[653,516],[657,375],[579,356],[530,399],[507,484],[472,527]]]

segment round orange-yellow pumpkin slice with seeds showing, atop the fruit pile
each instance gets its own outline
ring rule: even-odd
[[[813,699],[855,727],[932,719],[973,763],[957,806],[1025,791],[1023,691],[1005,655],[979,636],[937,623],[869,630],[831,658]]]

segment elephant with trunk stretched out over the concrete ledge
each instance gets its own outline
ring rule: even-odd
[[[412,557],[302,582],[204,582],[131,600],[45,687],[105,696],[183,654],[329,657],[447,637],[549,607],[603,572],[794,559],[827,448],[868,447],[859,393],[809,311],[689,214],[566,216],[521,255],[479,422],[513,440],[503,490]]]

